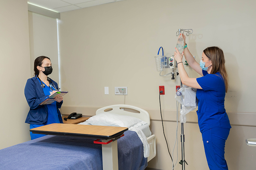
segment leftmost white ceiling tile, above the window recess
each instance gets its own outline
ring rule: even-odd
[[[30,4],[44,7],[46,9],[53,9],[53,8],[59,8],[59,7],[70,5],[60,0],[28,0],[28,2]]]

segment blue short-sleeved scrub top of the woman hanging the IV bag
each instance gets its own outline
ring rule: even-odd
[[[202,89],[197,89],[198,99],[198,125],[200,132],[211,128],[230,129],[230,122],[224,107],[226,89],[225,82],[220,72],[208,74],[203,70],[203,77],[196,78]]]

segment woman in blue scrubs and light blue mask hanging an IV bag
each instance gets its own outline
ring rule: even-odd
[[[196,113],[208,166],[210,170],[228,170],[224,148],[231,126],[224,108],[225,94],[228,91],[228,74],[223,51],[219,47],[208,47],[204,49],[200,63],[197,63],[188,50],[185,35],[182,36],[184,51],[180,54],[175,48],[174,58],[178,63],[182,84],[197,88]],[[183,55],[189,66],[203,77],[188,77],[182,63]]]

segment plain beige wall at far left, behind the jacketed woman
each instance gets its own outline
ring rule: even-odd
[[[30,139],[24,87],[30,78],[27,0],[0,1],[0,149]]]

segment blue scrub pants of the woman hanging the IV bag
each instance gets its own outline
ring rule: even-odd
[[[212,128],[202,133],[204,152],[210,170],[228,170],[224,157],[225,142],[230,129]]]

